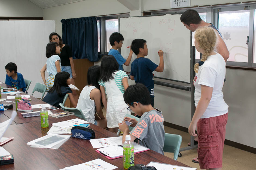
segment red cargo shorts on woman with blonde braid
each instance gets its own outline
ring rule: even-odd
[[[221,168],[228,113],[197,122],[198,161],[201,169]]]

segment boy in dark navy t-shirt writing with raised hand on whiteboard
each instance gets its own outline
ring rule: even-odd
[[[159,65],[153,63],[150,59],[146,59],[148,55],[147,41],[143,39],[135,39],[131,45],[132,51],[137,55],[137,58],[131,65],[131,80],[136,83],[142,83],[150,92],[151,105],[154,107],[154,78],[153,71],[163,72],[164,70],[164,52],[159,50],[160,58]]]

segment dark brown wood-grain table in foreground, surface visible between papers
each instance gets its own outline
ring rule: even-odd
[[[49,121],[49,124],[68,120],[73,117],[75,116],[56,118],[52,122]],[[96,139],[117,136],[93,124],[90,124],[90,128],[95,131]],[[14,164],[2,165],[0,169],[62,169],[66,166],[77,165],[97,158],[117,166],[118,169],[123,169],[123,158],[113,160],[105,158],[97,153],[95,151],[96,149],[93,149],[89,140],[71,137],[59,149],[32,148],[30,145],[27,145],[27,142],[45,136],[48,129],[41,128],[39,122],[10,125],[6,134],[14,137],[14,140],[4,144],[3,147],[13,154]],[[142,163],[147,165],[150,161],[155,161],[187,166],[152,150],[135,154],[134,160],[135,164]]]

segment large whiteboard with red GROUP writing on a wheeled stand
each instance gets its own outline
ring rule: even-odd
[[[147,41],[148,56],[159,65],[158,51],[164,52],[164,71],[154,71],[156,77],[190,83],[191,32],[180,21],[181,15],[120,18],[120,33],[124,37],[121,55],[127,58],[134,39]],[[136,59],[133,53],[132,60]],[[131,70],[124,66],[125,71]]]

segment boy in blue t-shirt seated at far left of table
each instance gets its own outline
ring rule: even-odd
[[[15,89],[25,92],[26,84],[21,73],[17,73],[17,66],[15,63],[8,63],[5,66],[6,77],[5,84],[12,86]]]

